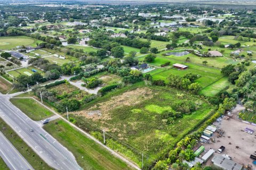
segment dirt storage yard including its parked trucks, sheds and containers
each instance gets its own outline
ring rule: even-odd
[[[215,160],[215,163],[218,163],[218,160],[221,158],[226,164],[233,164],[235,162],[237,164],[234,163],[234,165],[238,165],[227,167],[227,169],[239,169],[239,164],[244,167],[252,165],[252,169],[256,168],[252,163],[253,159],[250,158],[250,155],[254,155],[254,151],[256,151],[256,138],[254,137],[256,126],[238,120],[237,114],[238,111],[235,111],[234,115],[230,118],[220,118],[212,126],[205,129],[204,135],[201,137],[203,144],[200,147],[204,148],[204,151],[202,154],[199,154],[199,158],[203,159],[206,165],[212,165],[212,159]],[[214,131],[214,126],[217,127],[216,132],[212,132]],[[218,153],[217,151],[221,146],[224,148],[222,147],[221,153]],[[198,150],[195,151],[195,155],[198,155]],[[233,160],[233,162],[230,162],[229,159]]]

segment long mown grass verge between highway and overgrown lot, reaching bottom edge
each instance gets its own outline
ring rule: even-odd
[[[74,154],[83,169],[131,169],[63,120],[50,122],[44,129]]]

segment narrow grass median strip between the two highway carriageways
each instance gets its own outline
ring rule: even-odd
[[[0,131],[12,143],[12,145],[20,152],[20,154],[33,166],[34,169],[48,170],[49,167],[2,118],[0,118]],[[1,166],[0,166],[1,167]]]

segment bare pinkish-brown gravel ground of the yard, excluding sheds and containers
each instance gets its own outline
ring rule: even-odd
[[[204,146],[206,151],[210,148],[218,150],[221,146],[225,146],[226,149],[219,155],[228,154],[232,160],[241,165],[253,165],[253,160],[250,159],[250,155],[253,155],[253,152],[256,151],[256,138],[254,138],[254,135],[256,135],[256,126],[238,120],[237,114],[240,109],[241,106],[235,108],[233,111],[234,115],[229,120],[222,119],[220,123],[214,123],[215,126],[225,130],[225,133],[222,137],[217,138],[217,133],[215,132],[213,135],[215,143],[210,142],[204,144]],[[244,132],[245,128],[250,128],[255,132],[253,134],[246,133]],[[217,154],[217,152],[214,153],[214,155]],[[207,165],[211,164],[211,159],[208,160]],[[253,165],[253,169],[254,168],[256,168],[255,165]]]

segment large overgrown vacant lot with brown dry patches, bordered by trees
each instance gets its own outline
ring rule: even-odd
[[[190,114],[183,114],[182,118],[172,123],[167,123],[162,117],[166,112],[174,111],[175,104],[192,101],[197,109]],[[70,114],[70,117],[76,120],[79,127],[90,131],[100,140],[102,131],[92,124],[104,128],[108,134],[107,145],[138,165],[141,165],[141,155],[120,143],[128,143],[140,153],[143,151],[149,155],[146,156],[148,160],[145,160],[145,164],[149,165],[153,159],[167,154],[184,135],[198,127],[212,109],[213,106],[207,101],[185,91],[145,87],[143,83],[137,83],[92,101],[82,111]],[[115,137],[117,142],[113,142],[109,135]]]

